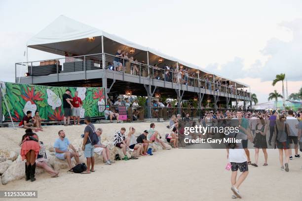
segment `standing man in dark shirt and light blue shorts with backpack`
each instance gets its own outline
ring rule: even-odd
[[[87,170],[83,171],[81,174],[89,174],[95,171],[94,170],[94,145],[95,145],[94,139],[96,134],[95,134],[94,125],[91,123],[91,118],[86,116],[84,122],[87,126],[85,127],[84,130],[82,150],[84,151],[84,156],[87,159]]]

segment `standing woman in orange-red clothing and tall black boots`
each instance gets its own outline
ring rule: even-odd
[[[32,129],[26,129],[25,134],[22,136],[20,146],[22,161],[26,159],[25,180],[35,181],[36,159],[40,150],[38,135],[33,133]]]

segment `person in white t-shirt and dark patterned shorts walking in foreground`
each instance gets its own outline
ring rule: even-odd
[[[239,137],[236,137],[236,139],[239,139]],[[234,193],[232,198],[241,198],[241,195],[239,194],[239,186],[242,184],[242,182],[246,179],[248,173],[249,173],[249,167],[247,162],[247,157],[245,150],[242,147],[242,144],[236,144],[237,147],[234,149],[227,148],[227,159],[229,163],[231,164],[231,190]],[[238,169],[242,172],[242,174],[238,177],[237,180],[237,171]]]

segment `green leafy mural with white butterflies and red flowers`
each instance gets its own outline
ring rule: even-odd
[[[72,95],[78,92],[83,101],[80,117],[103,117],[105,109],[105,89],[102,87],[51,87],[31,84],[1,82],[7,106],[13,121],[21,121],[27,111],[33,115],[38,110],[42,119],[60,121],[63,119],[62,96],[66,89]],[[2,120],[10,121],[4,100],[1,102]]]

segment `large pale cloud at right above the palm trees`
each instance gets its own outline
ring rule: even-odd
[[[210,64],[206,68],[211,68],[218,74],[231,79],[260,77],[261,81],[271,81],[276,74],[285,73],[288,80],[301,81],[302,19],[283,22],[280,23],[280,26],[292,32],[293,38],[288,42],[277,38],[269,39],[264,49],[261,50],[262,55],[267,57],[266,62],[261,63],[260,60],[256,60],[250,67],[244,67],[244,60],[235,57],[226,64]]]

